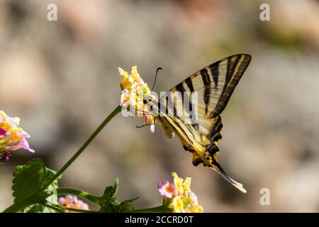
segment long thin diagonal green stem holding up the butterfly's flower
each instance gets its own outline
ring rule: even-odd
[[[77,159],[77,157],[79,157],[79,155],[81,155],[81,153],[85,150],[85,148],[87,148],[87,146],[92,142],[92,140],[94,140],[94,138],[96,138],[96,135],[98,135],[102,129],[104,128],[104,126],[106,126],[106,124],[111,121],[111,119],[116,116],[116,114],[121,112],[121,106],[116,107],[116,109],[113,110],[113,112],[108,115],[105,120],[101,123],[101,125],[96,128],[96,131],[94,131],[94,133],[86,140],[86,142],[82,145],[81,148],[79,148],[79,150],[77,151],[77,153],[75,153],[68,161],[67,163],[65,163],[65,165],[47,182],[47,184],[44,185],[43,187],[43,191],[45,189],[47,189],[47,187],[49,187],[50,184],[52,184],[52,182],[55,181],[55,179],[57,179],[58,177],[60,177],[60,175],[62,175],[63,172],[65,172],[65,170],[67,170],[67,167],[69,167],[72,162],[74,162],[74,160]]]

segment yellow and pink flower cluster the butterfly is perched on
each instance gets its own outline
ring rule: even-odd
[[[128,107],[130,110],[135,110],[135,116],[142,116],[145,121],[145,126],[150,126],[150,131],[155,132],[155,118],[146,109],[143,103],[145,96],[150,96],[151,91],[147,84],[142,80],[138,74],[138,68],[132,67],[130,74],[118,67],[118,73],[123,76],[121,81],[121,99],[120,106]]]

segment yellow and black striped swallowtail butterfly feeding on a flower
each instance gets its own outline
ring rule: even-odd
[[[202,164],[216,170],[244,193],[247,191],[243,185],[229,177],[218,162],[218,142],[222,138],[220,131],[223,128],[220,114],[228,104],[251,58],[247,54],[225,57],[192,74],[164,94],[159,101],[150,97],[144,100],[145,104],[155,101],[156,104],[152,106],[157,106],[157,109],[150,107],[150,111],[156,112],[155,121],[159,123],[167,138],[172,139],[174,135],[179,137],[183,148],[192,153],[194,166]],[[196,100],[194,94],[197,96]],[[177,114],[184,111],[186,105],[189,109],[192,106],[196,109],[195,123],[189,123],[191,116]]]

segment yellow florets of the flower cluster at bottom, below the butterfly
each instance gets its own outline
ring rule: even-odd
[[[177,194],[172,199],[164,198],[164,206],[173,213],[203,213],[203,206],[198,204],[197,196],[191,192],[191,178],[182,179],[172,172]]]

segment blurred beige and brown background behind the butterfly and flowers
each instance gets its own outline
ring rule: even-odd
[[[57,21],[47,5],[57,4]],[[261,21],[259,6],[270,6]],[[138,65],[155,91],[237,53],[252,62],[222,114],[220,162],[242,194],[194,167],[178,138],[120,114],[65,172],[60,186],[93,194],[120,177],[118,199],[158,206],[157,182],[192,178],[206,212],[319,211],[319,1],[0,2],[0,109],[21,118],[35,153],[0,166],[0,210],[11,205],[15,165],[40,157],[58,170],[118,105],[117,67]],[[270,191],[261,206],[259,191]],[[94,207],[92,207],[94,208]]]

